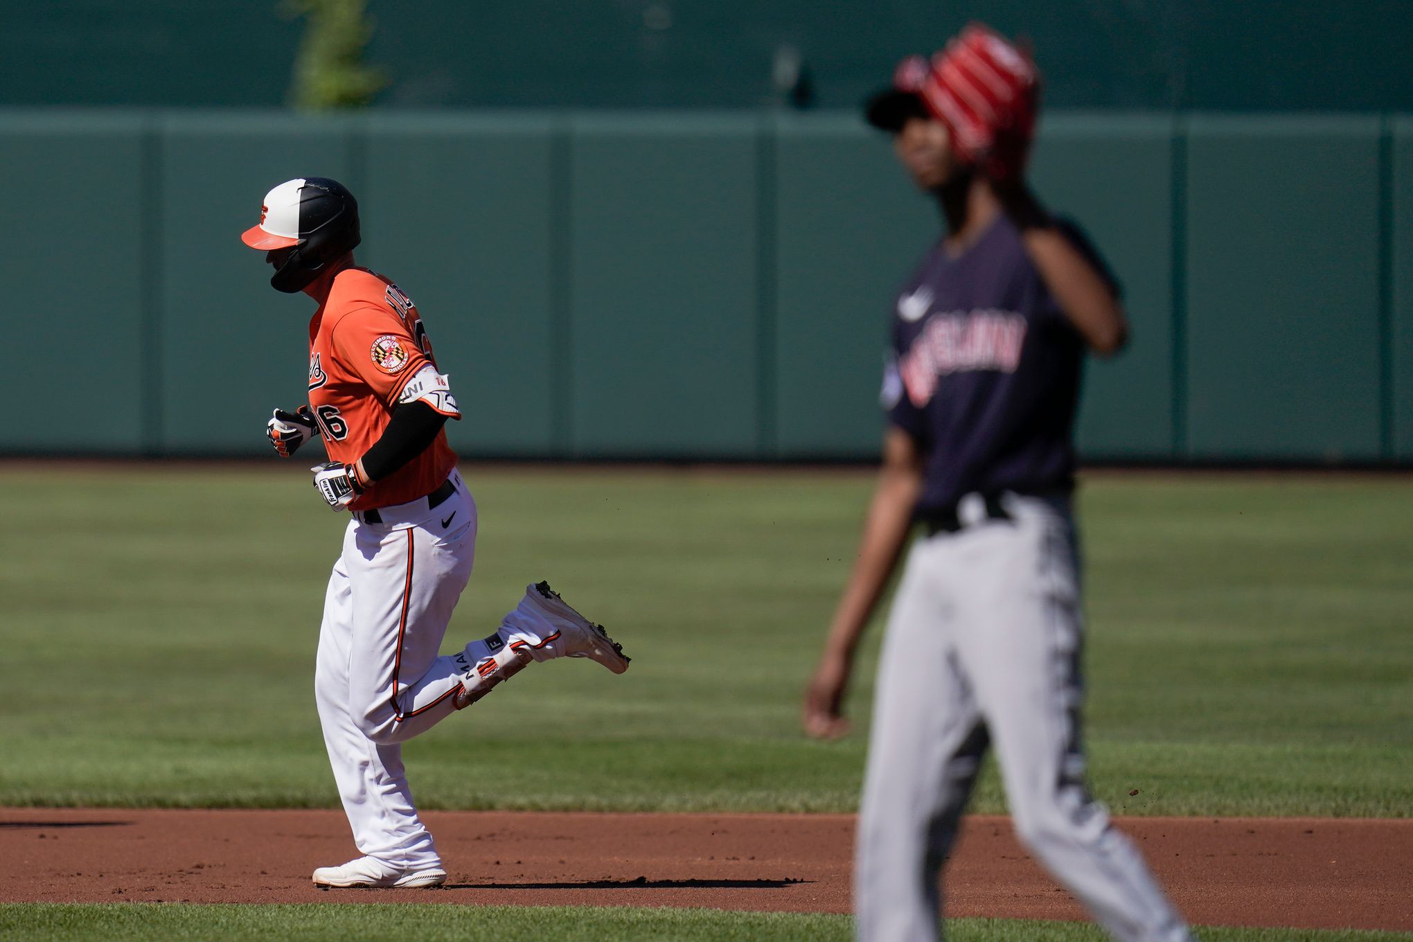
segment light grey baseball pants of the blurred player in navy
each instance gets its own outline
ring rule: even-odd
[[[975,501],[968,503],[971,499]],[[935,942],[940,874],[989,746],[1020,839],[1122,942],[1187,942],[1133,845],[1084,785],[1078,551],[1068,500],[921,538],[879,662],[855,869],[858,938]]]

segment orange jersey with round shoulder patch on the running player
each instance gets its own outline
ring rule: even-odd
[[[367,268],[338,273],[328,301],[309,321],[309,408],[329,459],[345,465],[360,459],[383,436],[407,381],[435,364],[417,308],[397,285]],[[374,482],[349,507],[415,500],[437,490],[455,465],[441,431],[421,455]]]

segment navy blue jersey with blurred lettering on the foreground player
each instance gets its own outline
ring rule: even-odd
[[[971,491],[1070,490],[1084,352],[1005,215],[959,256],[938,242],[897,297],[883,381],[889,421],[924,456],[916,514]]]

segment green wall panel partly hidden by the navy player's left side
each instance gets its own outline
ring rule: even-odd
[[[893,295],[941,220],[852,116],[779,120],[773,182],[774,453],[875,458]]]

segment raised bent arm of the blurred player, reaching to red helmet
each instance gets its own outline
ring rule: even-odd
[[[992,189],[1002,209],[1020,229],[1026,254],[1040,271],[1050,295],[1070,322],[1101,356],[1123,349],[1129,322],[1113,287],[1046,212],[1023,184]]]

